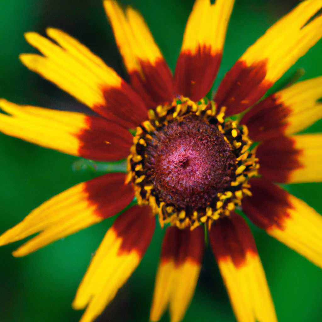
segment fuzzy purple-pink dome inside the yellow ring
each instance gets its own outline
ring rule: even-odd
[[[156,193],[180,209],[209,206],[236,178],[236,157],[223,134],[191,116],[156,132],[146,155]]]

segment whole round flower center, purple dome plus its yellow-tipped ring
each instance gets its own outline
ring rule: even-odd
[[[139,205],[149,204],[161,226],[208,225],[229,215],[250,194],[258,159],[245,126],[223,120],[215,103],[187,98],[149,110],[128,157]]]

